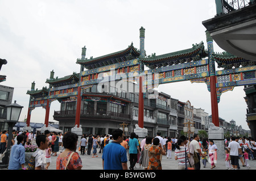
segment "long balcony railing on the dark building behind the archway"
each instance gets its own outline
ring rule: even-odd
[[[126,119],[130,119],[131,116],[127,115],[125,113],[119,113],[119,112],[111,112],[111,111],[87,111],[87,110],[81,110],[81,115],[93,115],[93,116],[113,116],[113,117],[122,117]],[[76,115],[76,110],[70,110],[70,111],[54,111],[54,115]]]

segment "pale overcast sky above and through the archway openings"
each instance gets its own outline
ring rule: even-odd
[[[131,42],[139,49],[139,28],[145,33],[147,55],[171,53],[192,48],[204,42],[205,27],[202,22],[216,14],[214,0],[151,1],[9,1],[0,0],[0,58],[6,59],[1,75],[6,81],[1,85],[14,87],[14,100],[24,106],[20,120],[27,117],[31,83],[42,89],[47,86],[50,71],[55,77],[64,77],[74,71],[79,73],[81,48],[86,46],[86,57],[98,57],[126,49]],[[216,43],[214,51],[222,52]],[[163,91],[181,102],[189,100],[195,108],[211,115],[210,92],[205,83],[189,81],[160,85]],[[221,95],[219,116],[234,120],[248,130],[243,87]],[[51,104],[49,121],[60,103]],[[31,122],[44,123],[46,110],[32,111]]]

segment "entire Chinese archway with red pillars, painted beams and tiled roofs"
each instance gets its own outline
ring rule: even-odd
[[[160,84],[179,81],[206,83],[206,89],[210,91],[211,97],[212,122],[218,127],[218,102],[220,102],[221,94],[229,90],[232,91],[236,86],[256,83],[255,62],[227,52],[214,53],[213,39],[208,32],[206,32],[207,49],[202,41],[193,44],[191,48],[177,52],[146,56],[144,50],[145,29],[141,27],[139,31],[139,50],[131,43],[128,48],[119,52],[96,58],[86,58],[86,48],[84,47],[81,58],[76,61],[76,64],[81,65],[80,73],[74,72],[62,78],[54,78],[52,70],[50,78],[46,79],[49,87],[43,87],[42,90],[35,90],[35,82],[33,82],[31,90],[27,91],[27,94],[30,95],[27,126],[30,126],[32,110],[35,107],[43,107],[46,109],[44,124],[48,127],[51,102],[58,100],[59,102],[76,102],[73,105],[76,108],[70,112],[70,115],[75,115],[75,123],[72,124],[79,127],[81,100],[109,101],[116,104],[130,102],[130,100],[117,95],[109,93],[96,95],[88,91],[100,83],[125,79],[125,81],[139,82],[139,127],[143,128],[143,97],[147,92]],[[218,68],[222,68],[222,70],[216,71],[214,62],[217,62]],[[147,70],[144,70],[144,67]]]

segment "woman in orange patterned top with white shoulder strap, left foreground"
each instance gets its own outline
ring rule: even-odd
[[[67,132],[63,136],[65,150],[60,153],[56,161],[56,170],[81,170],[82,160],[76,152],[78,136],[76,133]]]

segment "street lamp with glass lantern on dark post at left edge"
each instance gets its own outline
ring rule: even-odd
[[[23,106],[20,106],[14,100],[13,104],[9,104],[5,106],[7,108],[7,117],[6,122],[9,127],[9,138],[7,141],[6,153],[2,158],[2,163],[0,163],[0,169],[6,169],[9,165],[9,157],[11,150],[11,140],[13,138],[13,127],[19,121],[20,112],[22,111]]]

